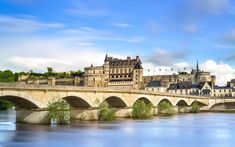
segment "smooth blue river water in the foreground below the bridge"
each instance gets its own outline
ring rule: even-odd
[[[0,146],[234,147],[235,114],[202,113],[152,120],[83,122],[69,126],[15,124],[0,115]]]

